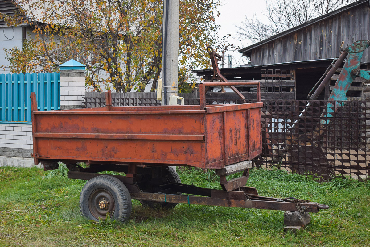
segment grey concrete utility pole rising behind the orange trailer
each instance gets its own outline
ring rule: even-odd
[[[163,11],[163,91],[162,105],[169,104],[169,96],[177,95],[179,63],[180,0],[165,0]]]

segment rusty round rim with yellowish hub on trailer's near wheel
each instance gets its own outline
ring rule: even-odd
[[[112,194],[105,189],[94,190],[88,200],[89,210],[95,218],[105,219],[107,213],[112,215],[115,209],[114,198]]]

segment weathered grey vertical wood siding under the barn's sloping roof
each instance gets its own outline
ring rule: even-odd
[[[370,39],[370,9],[365,2],[325,20],[283,37],[269,41],[251,51],[251,65],[329,59],[339,56],[339,47],[356,40]],[[362,61],[370,61],[370,49]]]

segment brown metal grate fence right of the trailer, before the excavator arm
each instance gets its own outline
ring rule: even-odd
[[[334,176],[369,179],[370,175],[370,102],[265,101],[262,110],[262,154],[256,166],[277,166],[314,178]],[[332,114],[323,114],[323,111]],[[264,115],[264,116],[263,116]],[[298,123],[292,128],[293,123]],[[320,124],[321,123],[321,124]]]

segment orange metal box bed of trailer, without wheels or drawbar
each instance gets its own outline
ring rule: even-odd
[[[35,165],[48,160],[223,168],[261,153],[262,104],[33,110]]]

